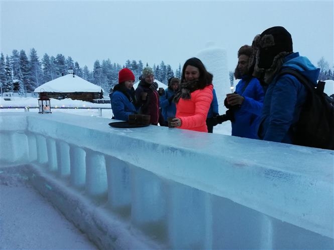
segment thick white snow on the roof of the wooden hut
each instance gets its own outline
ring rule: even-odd
[[[72,93],[72,92],[101,92],[102,88],[92,84],[77,75],[67,74],[58,77],[52,81],[42,84],[34,90],[34,92],[57,92],[57,93]],[[103,90],[102,90],[103,91]],[[104,92],[104,91],[103,91]]]

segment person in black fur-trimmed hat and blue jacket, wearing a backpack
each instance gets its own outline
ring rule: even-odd
[[[299,71],[316,86],[319,70],[306,58],[293,53],[292,38],[283,27],[272,27],[253,41],[257,50],[256,73],[268,84],[258,134],[266,141],[293,144],[294,124],[306,101],[306,89],[297,78],[286,74],[285,68]]]

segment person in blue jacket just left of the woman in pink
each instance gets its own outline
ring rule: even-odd
[[[168,125],[168,117],[175,117],[176,106],[173,98],[180,88],[180,79],[171,77],[168,79],[168,88],[160,96],[160,107],[165,120],[165,126]]]

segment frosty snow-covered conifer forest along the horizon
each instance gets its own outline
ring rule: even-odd
[[[127,60],[124,65],[113,63],[110,59],[100,62],[96,60],[93,64],[93,70],[90,71],[85,65],[80,67],[78,62],[68,56],[65,58],[62,54],[56,57],[44,54],[42,60],[39,59],[37,51],[33,48],[30,50],[29,58],[24,50],[20,52],[13,50],[12,55],[5,56],[1,53],[0,65],[0,83],[1,94],[4,92],[18,92],[20,96],[26,96],[27,93],[34,92],[40,85],[56,79],[62,74],[67,74],[68,69],[73,69],[77,76],[94,83],[108,92],[118,83],[118,72],[122,68],[131,69],[138,80],[144,65],[141,60]],[[321,69],[318,80],[334,80],[333,70],[330,69],[328,62],[323,57],[317,62],[317,66]],[[155,73],[155,79],[167,84],[170,77],[180,77],[181,65],[173,71],[169,64],[161,61],[159,65],[150,66]],[[232,72],[233,73],[233,72]],[[230,78],[233,74],[230,72]],[[231,79],[232,80],[232,79]]]

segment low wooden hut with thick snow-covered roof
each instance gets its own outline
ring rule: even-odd
[[[94,102],[103,98],[103,89],[75,74],[69,73],[42,84],[34,90],[35,93],[46,92],[49,98],[82,100]]]

